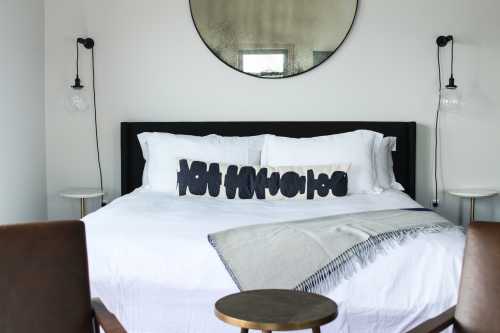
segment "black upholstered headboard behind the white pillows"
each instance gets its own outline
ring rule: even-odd
[[[397,137],[393,153],[396,179],[415,198],[416,123],[414,122],[154,122],[121,124],[122,194],[132,192],[142,184],[144,158],[137,139],[142,132],[223,136],[275,134],[287,137],[320,135],[368,129]]]

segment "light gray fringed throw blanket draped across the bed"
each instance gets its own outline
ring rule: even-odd
[[[208,236],[240,290],[324,292],[408,237],[458,228],[424,209],[252,225]]]

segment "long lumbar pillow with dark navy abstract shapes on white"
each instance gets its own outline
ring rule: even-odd
[[[227,199],[318,199],[347,195],[348,164],[296,167],[238,166],[179,160],[179,196]]]

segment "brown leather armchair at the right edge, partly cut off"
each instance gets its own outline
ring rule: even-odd
[[[409,333],[500,332],[500,223],[474,222],[467,233],[458,304]]]

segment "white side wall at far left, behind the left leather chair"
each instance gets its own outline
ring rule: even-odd
[[[0,1],[0,224],[47,218],[43,31],[43,1]]]

